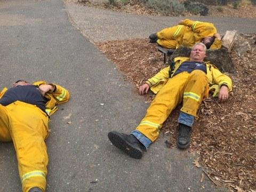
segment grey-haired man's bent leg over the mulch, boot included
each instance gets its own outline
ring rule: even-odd
[[[194,123],[197,110],[207,94],[208,79],[201,70],[194,70],[187,79],[183,93],[183,106],[181,108],[179,122],[179,136],[177,145],[187,148],[190,142],[191,127]]]

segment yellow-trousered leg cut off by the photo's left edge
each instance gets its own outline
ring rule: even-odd
[[[9,117],[8,112],[4,106],[0,104],[0,141],[12,141],[9,130]]]

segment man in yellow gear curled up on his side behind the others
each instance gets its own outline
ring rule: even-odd
[[[207,49],[221,47],[221,36],[212,23],[189,19],[180,21],[177,26],[151,34],[149,38],[151,43],[157,43],[167,49],[177,49],[180,45],[193,46],[198,42],[204,43]]]

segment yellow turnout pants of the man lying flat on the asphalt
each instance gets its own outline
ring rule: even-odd
[[[47,115],[34,105],[20,101],[0,104],[0,141],[13,141],[24,192],[32,187],[45,191],[48,123]]]

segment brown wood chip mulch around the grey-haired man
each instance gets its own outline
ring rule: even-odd
[[[194,164],[204,167],[205,177],[216,186],[239,192],[256,191],[256,44],[253,38],[255,35],[236,37],[231,58],[237,73],[229,74],[233,92],[225,103],[219,103],[216,98],[203,101],[188,149],[198,154]],[[244,41],[250,43],[252,50],[239,55],[235,48]],[[109,41],[97,46],[137,89],[166,67],[156,44],[148,43],[147,39]],[[153,98],[152,93],[145,96],[146,102]],[[162,134],[169,138],[166,147],[176,146],[179,109],[180,106],[163,126]]]

